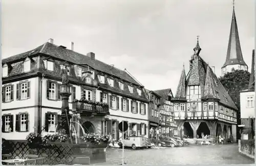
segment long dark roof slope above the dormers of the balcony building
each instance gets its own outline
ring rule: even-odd
[[[51,56],[60,60],[68,61],[73,64],[88,64],[90,67],[92,67],[95,70],[102,71],[110,75],[114,75],[123,80],[129,81],[134,85],[140,86],[139,82],[137,82],[132,76],[130,76],[124,70],[120,70],[116,67],[105,64],[99,60],[91,59],[90,57],[85,56],[81,53],[57,46],[49,42],[46,42],[45,44],[42,44],[30,51],[3,59],[2,64],[9,63],[9,62],[11,63],[17,60],[22,60],[22,59],[25,59],[27,56],[31,54],[36,54],[36,53],[46,54],[48,56]]]

